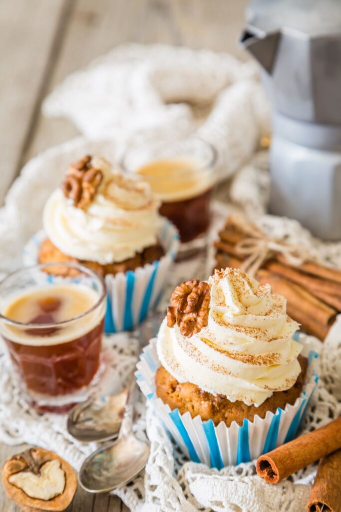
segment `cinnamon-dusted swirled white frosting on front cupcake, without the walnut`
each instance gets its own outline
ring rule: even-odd
[[[209,278],[208,322],[191,337],[166,319],[157,337],[161,364],[179,382],[191,382],[231,401],[260,406],[274,391],[291,388],[300,374],[299,328],[286,300],[238,269]]]

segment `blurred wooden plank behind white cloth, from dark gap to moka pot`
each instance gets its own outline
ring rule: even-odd
[[[90,60],[127,41],[209,48],[246,58],[237,44],[246,3],[247,0],[77,0],[48,90]],[[40,116],[25,160],[75,135],[77,130],[69,122]]]

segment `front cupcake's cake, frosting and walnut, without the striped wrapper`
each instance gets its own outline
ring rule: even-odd
[[[230,426],[300,396],[307,360],[292,339],[299,324],[269,285],[238,269],[216,270],[208,283],[178,286],[171,304],[156,373],[156,394],[171,409]]]

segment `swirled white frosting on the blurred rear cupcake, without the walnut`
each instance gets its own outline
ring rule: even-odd
[[[132,258],[157,243],[159,201],[148,183],[112,170],[99,157],[90,165],[102,180],[85,208],[78,208],[61,189],[53,192],[43,212],[43,226],[63,253],[102,265]]]

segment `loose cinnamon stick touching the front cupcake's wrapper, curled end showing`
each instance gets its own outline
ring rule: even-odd
[[[341,449],[341,417],[321,429],[309,432],[261,455],[257,459],[256,471],[267,483],[278,483],[339,449]]]

